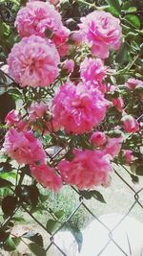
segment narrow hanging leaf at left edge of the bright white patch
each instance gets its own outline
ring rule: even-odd
[[[71,222],[68,224],[68,228],[72,232],[72,235],[76,243],[78,244],[78,252],[80,252],[83,243],[82,233],[80,229],[77,226],[73,225]]]

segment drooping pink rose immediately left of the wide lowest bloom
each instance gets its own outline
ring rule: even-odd
[[[33,178],[51,191],[57,192],[62,187],[62,180],[56,175],[54,168],[46,164],[30,167]]]

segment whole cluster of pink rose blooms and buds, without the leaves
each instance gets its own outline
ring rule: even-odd
[[[21,41],[11,49],[8,65],[10,76],[21,87],[45,87],[59,75],[60,57],[69,52],[70,31],[53,6],[58,2],[31,0],[17,13],[15,26]],[[92,132],[92,128],[104,120],[111,104],[105,95],[115,86],[103,84],[108,69],[103,59],[109,57],[111,49],[119,49],[121,36],[120,21],[111,13],[95,11],[81,18],[79,31],[72,38],[75,45],[86,42],[92,50],[92,57],[86,57],[80,63],[81,82],[75,85],[69,80],[61,85],[52,99],[51,110],[42,101],[32,102],[24,120],[15,110],[6,117],[10,129],[5,136],[4,151],[18,164],[30,165],[32,177],[54,192],[62,187],[63,182],[81,190],[108,184],[112,160],[121,151],[124,137],[121,134],[112,138],[99,130]],[[77,63],[71,58],[64,60],[61,67],[67,75],[71,74]],[[133,90],[143,82],[130,79],[126,85]],[[122,112],[124,130],[136,132],[139,124],[133,116],[125,113],[123,99],[120,96],[112,99],[112,105]],[[38,128],[40,121],[41,129]],[[92,132],[90,143],[93,150],[74,149],[72,160],[61,160],[56,171],[47,165],[46,151],[29,128],[42,130],[44,135],[60,128],[75,135]],[[133,161],[133,151],[123,153],[127,163]]]

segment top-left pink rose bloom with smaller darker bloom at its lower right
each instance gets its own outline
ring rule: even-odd
[[[63,25],[60,13],[48,2],[27,3],[26,7],[17,13],[15,26],[21,37],[30,35],[45,37],[46,31],[49,31],[60,56],[65,56],[69,51],[67,40],[70,31]]]

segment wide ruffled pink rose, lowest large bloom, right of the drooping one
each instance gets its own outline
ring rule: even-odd
[[[107,183],[112,171],[110,158],[102,151],[74,150],[72,161],[62,160],[58,169],[63,180],[78,189],[90,189]]]

